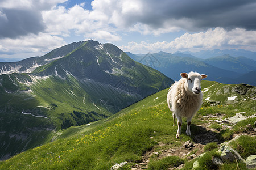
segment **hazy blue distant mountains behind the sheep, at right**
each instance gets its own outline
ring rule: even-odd
[[[204,55],[209,54],[207,52],[212,55],[217,52],[218,54],[224,53],[223,51],[212,50],[204,51]],[[205,56],[204,58],[207,59],[203,59],[197,58],[201,54],[203,55],[203,52],[197,53],[197,57],[192,55],[195,53],[181,52],[175,54],[165,52],[131,54],[128,52],[127,54],[135,61],[153,67],[174,80],[179,80],[182,72],[197,71],[207,74],[208,80],[227,84],[247,83],[256,86],[256,76],[251,76],[251,73],[256,70],[256,61],[243,56],[233,57],[225,54],[213,57]]]

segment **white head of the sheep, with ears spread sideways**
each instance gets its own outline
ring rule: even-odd
[[[207,78],[205,74],[199,74],[196,72],[181,73],[181,77],[187,79],[188,90],[193,92],[193,94],[198,95],[201,92],[200,82],[202,79]]]

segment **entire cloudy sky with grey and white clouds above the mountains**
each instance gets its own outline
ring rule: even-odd
[[[0,57],[93,39],[125,52],[256,51],[254,0],[0,0]]]

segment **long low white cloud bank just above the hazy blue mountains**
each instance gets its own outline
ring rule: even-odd
[[[160,50],[175,52],[191,49],[199,51],[216,48],[255,50],[256,31],[246,31],[241,28],[226,31],[224,28],[217,27],[205,32],[185,33],[171,42],[129,42],[127,46],[123,45],[120,48],[134,53],[159,52]]]

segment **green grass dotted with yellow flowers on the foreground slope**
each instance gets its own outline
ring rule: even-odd
[[[211,82],[203,81],[202,87],[209,87],[209,83]],[[180,146],[181,142],[193,140],[184,134],[184,124],[181,138],[175,138],[176,127],[172,126],[171,112],[166,104],[167,91],[151,95],[105,120],[61,130],[55,142],[0,162],[0,169],[110,169],[115,163],[128,161],[133,165],[139,162],[141,156],[157,145],[157,142]],[[250,105],[248,100],[239,103],[240,109],[244,109],[241,103]],[[207,108],[209,107],[201,109]],[[230,105],[211,108],[213,112],[228,113],[227,116],[232,116],[231,112],[237,112]],[[253,109],[246,110],[248,115],[254,112]],[[199,117],[202,117],[201,114],[197,114],[192,124],[200,123],[197,121]],[[254,121],[255,119],[251,119],[249,123],[254,124]],[[240,126],[247,124],[246,121],[241,122]],[[196,126],[192,126],[192,137],[197,133],[196,130]],[[225,133],[227,132],[224,131],[222,135]]]

